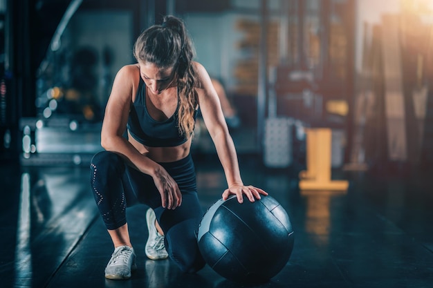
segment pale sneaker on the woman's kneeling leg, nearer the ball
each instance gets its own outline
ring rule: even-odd
[[[146,256],[151,260],[165,259],[168,257],[167,250],[165,250],[164,236],[158,233],[155,227],[156,216],[152,209],[146,212],[147,230],[149,231],[149,238],[146,242]]]

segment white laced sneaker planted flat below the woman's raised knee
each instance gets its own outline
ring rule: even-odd
[[[114,249],[107,267],[105,267],[105,278],[107,279],[129,279],[131,269],[136,269],[136,254],[129,246],[119,246]]]

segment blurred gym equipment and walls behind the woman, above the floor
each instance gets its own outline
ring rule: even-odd
[[[113,77],[163,15],[222,84],[239,154],[302,166],[320,127],[333,168],[431,166],[427,0],[0,0],[0,161],[88,165]],[[196,155],[215,153],[206,133]]]

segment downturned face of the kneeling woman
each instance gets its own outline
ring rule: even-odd
[[[176,74],[174,67],[160,68],[153,63],[139,63],[139,65],[140,76],[151,93],[159,95],[165,89],[172,87]]]

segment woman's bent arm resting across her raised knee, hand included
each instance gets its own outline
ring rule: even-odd
[[[101,145],[118,153],[129,166],[154,178],[161,194],[163,207],[174,209],[181,204],[181,192],[176,182],[162,166],[142,155],[123,134],[125,133],[132,95],[136,93],[140,71],[136,65],[121,68],[113,81],[113,88],[105,108],[101,131]]]

